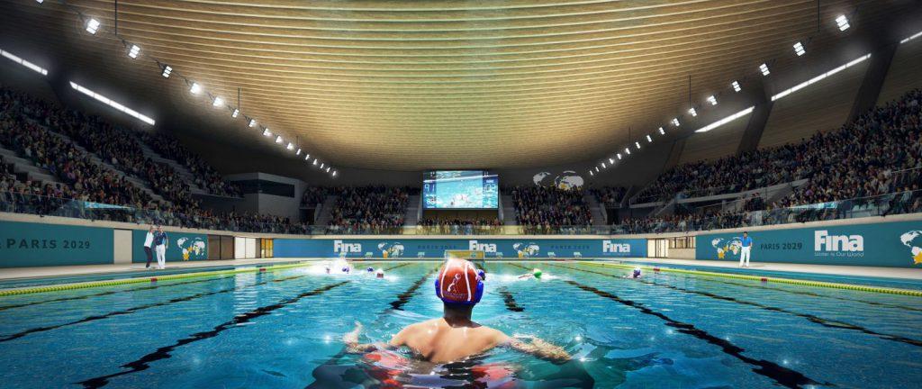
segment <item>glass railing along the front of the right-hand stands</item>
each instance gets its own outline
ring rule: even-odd
[[[715,217],[681,217],[675,219],[637,219],[611,226],[611,233],[659,233],[697,230],[720,230],[843,218],[866,218],[922,212],[922,190],[900,191],[886,195],[850,198],[805,206],[790,206]]]

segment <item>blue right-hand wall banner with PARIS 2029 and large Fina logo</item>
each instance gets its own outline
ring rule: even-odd
[[[741,233],[695,238],[695,257],[739,261]],[[922,221],[752,231],[752,262],[922,267]]]

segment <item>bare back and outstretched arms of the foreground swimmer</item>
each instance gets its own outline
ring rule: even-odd
[[[464,360],[483,354],[492,348],[508,347],[545,360],[555,362],[570,360],[570,354],[566,350],[537,337],[532,337],[531,342],[526,343],[506,336],[502,331],[474,322],[452,325],[444,318],[438,318],[410,324],[391,338],[386,345],[360,345],[358,343],[360,331],[361,324],[356,323],[356,329],[343,336],[343,341],[353,352],[371,351],[383,347],[407,347],[421,360],[444,363]]]

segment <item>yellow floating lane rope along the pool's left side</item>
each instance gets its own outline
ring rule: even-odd
[[[269,266],[257,265],[257,266],[246,266],[246,267],[240,267],[240,268],[228,269],[228,270],[214,270],[214,271],[183,273],[183,274],[174,274],[174,275],[166,275],[166,276],[154,275],[152,277],[133,277],[133,278],[123,278],[123,279],[110,279],[110,280],[105,280],[105,281],[78,282],[74,284],[49,285],[49,286],[44,286],[44,287],[3,289],[3,290],[0,290],[0,297],[12,296],[12,295],[18,295],[18,294],[59,291],[59,290],[111,287],[114,285],[125,285],[125,284],[140,284],[140,283],[147,283],[147,282],[164,281],[164,280],[169,280],[169,279],[183,279],[183,278],[194,278],[194,277],[215,277],[215,276],[224,276],[224,275],[240,274],[240,273],[258,273],[258,272],[265,272],[265,271],[277,271],[277,270],[290,269],[293,267],[316,265],[316,262],[317,261],[301,262],[298,264],[290,264],[290,265],[269,265]]]

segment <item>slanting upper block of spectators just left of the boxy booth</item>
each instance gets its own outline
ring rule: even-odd
[[[175,137],[169,134],[139,133],[144,143],[160,154],[163,158],[175,160],[192,172],[195,185],[211,195],[240,197],[242,191],[239,186],[225,181],[218,171],[209,165],[205,159],[193,154],[183,147]]]

